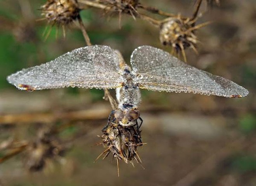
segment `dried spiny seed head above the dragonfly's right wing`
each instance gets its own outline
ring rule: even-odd
[[[196,45],[198,38],[195,36],[195,30],[208,24],[208,22],[195,25],[195,19],[170,17],[164,19],[160,24],[160,41],[163,45],[170,45],[176,53],[182,53],[184,61],[187,61],[185,49],[192,48],[197,53]]]

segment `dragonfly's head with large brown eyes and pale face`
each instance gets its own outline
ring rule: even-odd
[[[134,121],[140,117],[140,111],[137,108],[128,108],[125,110],[116,109],[114,117],[119,121],[120,125],[130,126],[134,125]]]

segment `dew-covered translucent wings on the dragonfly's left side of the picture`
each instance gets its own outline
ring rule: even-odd
[[[108,46],[88,46],[67,52],[53,61],[22,69],[7,77],[21,90],[61,87],[116,88],[121,85],[119,60]]]

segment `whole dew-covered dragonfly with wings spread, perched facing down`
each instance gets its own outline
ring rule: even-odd
[[[7,77],[20,90],[64,87],[115,89],[117,108],[109,115],[119,125],[137,124],[140,89],[199,93],[229,98],[247,96],[246,88],[220,76],[197,69],[168,52],[140,46],[131,54],[131,67],[109,46],[74,49],[53,61],[22,69]]]

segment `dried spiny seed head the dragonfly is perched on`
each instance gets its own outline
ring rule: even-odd
[[[141,163],[137,154],[137,147],[142,145],[141,131],[138,129],[138,125],[123,127],[112,123],[102,132],[103,147],[108,149],[104,158],[111,152],[113,157],[123,160],[125,163],[133,164],[133,159]]]

